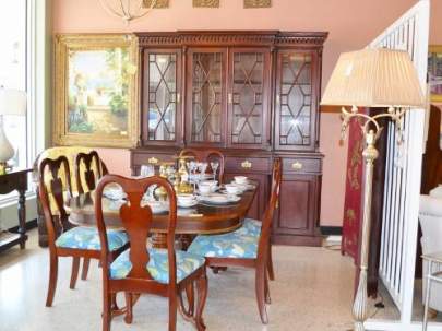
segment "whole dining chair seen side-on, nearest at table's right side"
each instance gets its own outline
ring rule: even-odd
[[[200,235],[190,245],[188,251],[205,257],[206,264],[214,268],[246,267],[255,270],[255,294],[261,321],[268,322],[266,304],[270,304],[267,259],[271,245],[271,228],[274,212],[278,204],[282,180],[279,158],[273,166],[272,193],[264,212],[259,235],[246,232],[232,232],[223,235]]]

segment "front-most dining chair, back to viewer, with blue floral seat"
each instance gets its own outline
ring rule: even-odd
[[[108,232],[103,213],[103,190],[109,184],[121,186],[127,193],[127,202],[120,206],[120,218],[126,229],[130,248],[114,262],[109,259]],[[168,197],[167,248],[146,247],[151,232],[153,212],[143,201],[143,194],[151,186],[163,187]],[[177,199],[171,184],[159,176],[143,179],[106,175],[96,189],[95,214],[101,243],[103,269],[103,330],[110,330],[112,318],[111,297],[118,292],[126,293],[126,322],[132,321],[134,298],[142,293],[168,297],[169,331],[176,330],[177,309],[194,323],[199,331],[205,330],[202,312],[207,296],[207,277],[203,257],[175,249],[177,224]],[[194,285],[198,305],[194,310]],[[189,309],[184,308],[182,294],[188,294]],[[192,292],[190,294],[190,292]]]

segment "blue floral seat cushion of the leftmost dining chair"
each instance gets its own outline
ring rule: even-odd
[[[107,240],[109,250],[124,246],[129,239],[124,232],[108,229]],[[95,227],[77,226],[62,233],[56,240],[57,247],[100,250],[98,229]]]

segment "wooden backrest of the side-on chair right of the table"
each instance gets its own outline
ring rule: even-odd
[[[265,246],[270,243],[272,222],[274,218],[275,210],[278,208],[279,203],[282,179],[283,179],[282,162],[279,157],[276,157],[273,162],[271,197],[262,220],[259,253],[261,250],[264,249],[264,247],[261,246]]]

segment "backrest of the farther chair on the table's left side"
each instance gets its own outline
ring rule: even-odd
[[[98,179],[107,174],[107,167],[96,151],[76,154],[75,180],[79,193],[95,190]]]

